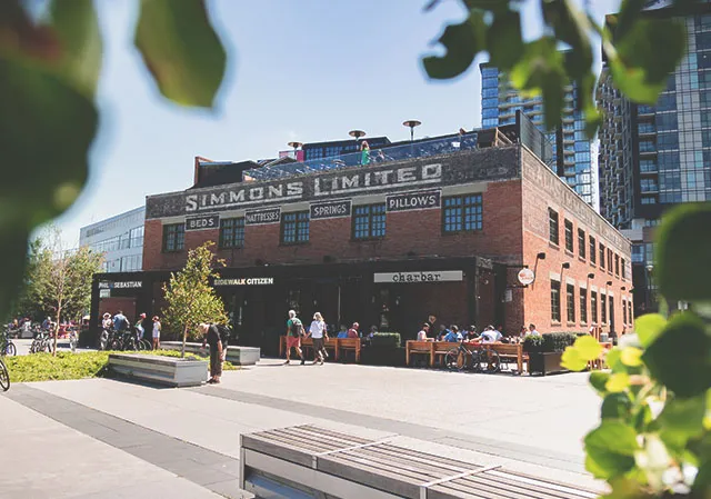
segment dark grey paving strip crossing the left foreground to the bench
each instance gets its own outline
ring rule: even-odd
[[[23,407],[27,407],[28,409],[31,409],[47,418],[52,419],[53,421],[59,422],[60,425],[63,425],[68,428],[72,428],[73,430],[79,431],[82,435],[86,435],[94,440],[99,440],[119,451],[123,451],[126,453],[129,453],[131,456],[133,456],[137,459],[141,459],[142,461],[146,462],[150,462],[151,465],[158,467],[158,468],[162,468],[166,471],[169,471],[178,477],[181,477],[186,480],[189,480],[202,488],[206,488],[208,490],[210,490],[213,493],[217,493],[219,496],[222,497],[234,497],[234,498],[241,498],[243,497],[240,492],[240,490],[237,487],[237,481],[238,478],[234,477],[232,473],[228,472],[228,471],[223,471],[223,470],[217,470],[216,468],[212,468],[211,465],[204,465],[202,462],[200,462],[198,459],[192,459],[191,458],[191,452],[194,453],[200,453],[200,452],[208,452],[210,455],[216,455],[216,458],[219,457],[219,462],[231,462],[234,461],[236,465],[239,465],[239,460],[234,459],[230,456],[223,455],[221,452],[217,452],[214,450],[201,447],[201,446],[197,446],[192,442],[188,442],[186,440],[181,440],[179,438],[176,437],[171,437],[169,435],[166,433],[161,433],[159,431],[152,430],[150,428],[146,428],[141,425],[137,425],[132,421],[119,418],[117,416],[100,411],[98,409],[93,409],[91,407],[84,406],[82,403],[79,402],[74,402],[72,400],[66,399],[63,397],[53,395],[53,393],[49,393],[44,390],[40,390],[37,388],[32,388],[29,387],[24,383],[17,383],[12,386],[12,390],[7,391],[4,393],[2,393],[3,397],[9,398],[10,400],[13,400],[17,403],[20,403]],[[52,410],[52,409],[57,409],[57,406],[61,407],[61,409],[59,410]],[[67,409],[71,408],[70,411],[68,411]],[[68,412],[77,412],[74,416],[74,418],[68,418]],[[81,413],[83,412],[83,415]],[[123,428],[121,429],[116,429],[116,428],[111,428],[108,427],[106,425],[100,425],[104,428],[111,429],[116,431],[114,436],[107,436],[107,435],[94,435],[90,431],[86,431],[86,429],[82,429],[81,422],[88,420],[89,418],[86,418],[87,415],[94,415],[94,413],[101,413],[103,415],[103,417],[106,418],[110,418],[111,420],[114,420],[117,422],[119,422],[119,426],[122,426]],[[128,425],[128,426],[127,426]],[[129,431],[130,429],[130,431]],[[116,437],[121,438],[121,433],[124,433],[124,436],[127,437],[127,441],[130,442],[128,446],[120,446],[117,441],[116,441]],[[138,440],[134,440],[138,439]],[[183,449],[181,449],[180,455],[182,456],[180,459],[173,460],[173,461],[164,461],[164,460],[160,460],[160,459],[151,459],[151,458],[147,458],[146,453],[141,453],[138,452],[139,449],[146,449],[146,446],[149,447],[156,447],[158,448],[159,446],[157,445],[151,445],[150,441],[151,440],[164,440],[164,441],[170,441],[170,443],[172,446],[178,445],[179,447],[183,447]],[[133,451],[132,451],[133,449]],[[192,462],[192,467],[194,467],[194,471],[193,469],[191,469],[190,473],[181,473],[179,472],[179,470],[177,470],[177,465],[178,462],[181,461],[191,461]],[[199,468],[203,468],[203,470],[201,471],[209,471],[210,473],[222,473],[224,475],[223,479],[219,479],[222,477],[212,477],[211,478],[211,482],[206,485],[206,483],[201,483],[201,481],[204,480],[200,480],[199,477],[200,473],[198,471]],[[210,486],[211,485],[222,485],[226,482],[232,482],[234,485],[234,495],[233,496],[224,496],[224,491],[223,489],[221,490],[213,490]]]

